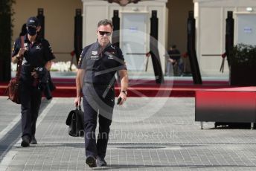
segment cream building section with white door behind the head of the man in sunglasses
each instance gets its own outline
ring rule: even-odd
[[[90,45],[97,39],[97,22],[112,19],[114,10],[120,17],[120,48],[124,53],[127,68],[132,71],[145,71],[150,51],[150,18],[152,11],[157,11],[159,19],[159,55],[164,71],[167,44],[167,0],[138,1],[122,7],[117,3],[103,0],[83,1],[83,46]],[[147,72],[153,74],[151,59],[148,60]]]

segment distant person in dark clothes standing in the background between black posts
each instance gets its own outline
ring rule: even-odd
[[[171,68],[173,68],[173,75],[180,76],[182,74],[182,59],[181,54],[176,45],[172,45],[168,51],[169,58],[167,59],[167,76],[171,75]]]

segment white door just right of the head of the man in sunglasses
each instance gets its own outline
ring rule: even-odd
[[[149,39],[147,13],[122,13],[120,47],[130,71],[144,71]]]

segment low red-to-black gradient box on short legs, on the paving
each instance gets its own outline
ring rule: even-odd
[[[195,120],[201,122],[201,127],[202,121],[255,123],[256,87],[196,91]]]

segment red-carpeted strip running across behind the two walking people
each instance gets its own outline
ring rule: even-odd
[[[57,89],[52,92],[53,97],[75,97],[75,80],[53,78]],[[0,83],[0,95],[4,94],[7,83]],[[202,85],[193,85],[191,80],[166,80],[164,84],[156,84],[155,80],[129,80],[129,97],[195,97],[196,90],[209,88],[228,88],[228,82],[223,80],[207,80]],[[118,95],[120,87],[115,86]]]

